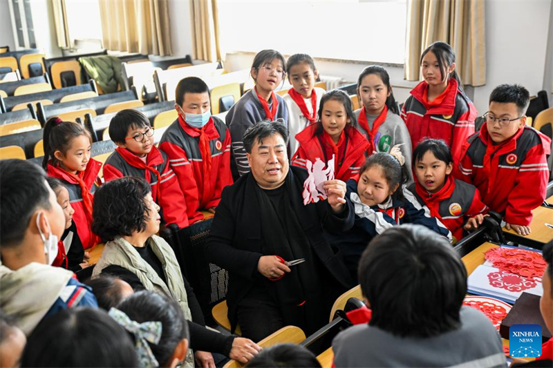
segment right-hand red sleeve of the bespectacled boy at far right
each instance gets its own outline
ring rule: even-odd
[[[532,147],[518,169],[515,185],[507,197],[503,220],[509,224],[528,226],[532,211],[545,200],[549,168],[541,144]]]

